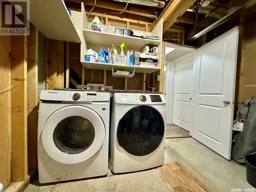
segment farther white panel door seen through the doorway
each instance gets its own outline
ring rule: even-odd
[[[194,52],[173,61],[174,69],[174,105],[173,123],[190,131],[193,122],[194,93]]]

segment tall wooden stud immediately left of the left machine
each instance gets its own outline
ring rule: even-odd
[[[38,116],[38,30],[30,24],[28,36],[28,174],[37,172],[37,116]]]

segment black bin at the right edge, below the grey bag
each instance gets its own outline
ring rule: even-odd
[[[256,152],[246,155],[244,161],[247,181],[251,186],[256,187]]]

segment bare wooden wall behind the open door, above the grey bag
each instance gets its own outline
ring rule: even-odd
[[[256,96],[256,16],[240,24],[235,112],[242,101]]]

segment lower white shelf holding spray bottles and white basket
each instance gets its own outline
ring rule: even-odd
[[[81,61],[81,63],[86,69],[96,69],[96,70],[112,71],[112,66],[114,67],[114,70],[129,71],[129,72],[133,72],[135,68],[135,73],[153,73],[155,71],[160,70],[159,67],[126,66],[126,65],[116,65],[116,64],[110,64],[110,63],[90,62],[90,61]]]

